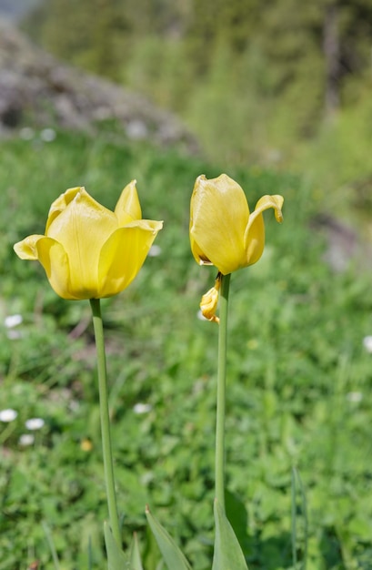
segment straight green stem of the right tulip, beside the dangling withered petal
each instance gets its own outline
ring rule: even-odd
[[[227,310],[230,274],[221,276],[219,296],[218,372],[216,403],[216,499],[225,512],[225,415]]]

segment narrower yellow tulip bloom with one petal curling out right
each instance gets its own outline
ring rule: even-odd
[[[283,220],[282,196],[263,196],[250,213],[246,195],[235,180],[221,174],[196,178],[190,209],[190,241],[200,265],[215,265],[223,275],[253,265],[265,246],[262,212],[275,209]]]

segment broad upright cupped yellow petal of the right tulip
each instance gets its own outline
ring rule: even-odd
[[[190,207],[190,241],[196,261],[212,263],[224,275],[244,267],[244,232],[249,208],[243,189],[222,174],[196,179]]]

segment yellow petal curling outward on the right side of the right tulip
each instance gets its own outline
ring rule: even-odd
[[[283,221],[281,208],[284,198],[279,195],[263,196],[256,203],[256,209],[249,216],[244,235],[246,248],[246,265],[253,265],[260,259],[265,247],[265,225],[262,212],[269,208],[275,209],[276,221]]]

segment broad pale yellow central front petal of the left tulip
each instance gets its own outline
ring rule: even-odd
[[[95,292],[98,285],[98,260],[101,249],[117,229],[114,212],[101,206],[80,188],[75,198],[52,221],[47,235],[58,241],[68,257],[71,290],[81,299]]]

